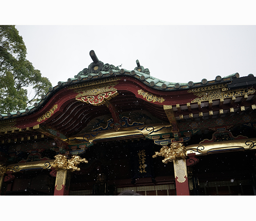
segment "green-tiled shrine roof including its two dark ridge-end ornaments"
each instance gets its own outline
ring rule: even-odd
[[[239,77],[238,73],[234,73],[226,77],[221,77],[218,75],[215,77],[214,80],[210,81],[208,81],[206,78],[203,78],[201,82],[167,82],[151,76],[149,69],[141,66],[138,60],[136,61],[137,66],[134,68],[134,70],[129,71],[124,68],[120,69],[119,66],[116,67],[112,64],[104,64],[103,62],[98,60],[93,50],[90,51],[90,56],[93,62],[88,66],[88,68],[84,68],[73,78],[69,78],[67,81],[59,81],[55,87],[50,87],[48,93],[44,94],[41,97],[41,100],[37,103],[34,103],[32,107],[27,107],[26,109],[19,110],[17,112],[11,112],[8,114],[0,114],[0,120],[4,120],[7,118],[18,118],[37,112],[37,110],[41,109],[41,107],[45,105],[57,91],[64,89],[65,87],[70,87],[72,85],[78,85],[95,80],[103,80],[110,77],[133,77],[142,82],[143,84],[147,85],[148,87],[161,91],[162,94],[167,91],[182,91],[200,87],[213,86],[222,83],[230,84],[233,81],[238,81],[239,87],[242,87],[241,85],[243,84],[248,85],[248,82],[251,82],[251,84],[255,84],[256,82],[256,77],[254,77],[252,74],[249,74],[248,77]]]

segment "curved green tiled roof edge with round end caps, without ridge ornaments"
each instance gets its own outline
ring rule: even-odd
[[[222,83],[230,83],[233,79],[239,77],[238,73],[235,73],[233,75],[229,75],[227,77],[221,78],[220,76],[217,76],[215,80],[212,81],[201,81],[197,83],[191,83],[188,82],[185,83],[172,83],[172,82],[166,82],[159,80],[155,77],[152,77],[151,75],[147,75],[138,71],[127,71],[125,69],[121,69],[120,71],[111,71],[111,72],[99,72],[97,74],[88,74],[88,75],[81,75],[78,78],[69,78],[67,82],[58,82],[58,85],[55,87],[50,87],[48,93],[42,96],[42,100],[35,103],[34,106],[28,107],[25,110],[20,110],[17,112],[12,112],[8,114],[0,114],[0,120],[5,119],[11,119],[11,118],[19,118],[22,116],[28,116],[30,114],[33,114],[35,112],[38,112],[40,109],[48,103],[48,101],[59,91],[63,90],[66,87],[72,86],[72,85],[79,85],[85,82],[91,82],[91,81],[97,81],[102,80],[110,77],[132,77],[145,86],[148,86],[151,89],[155,89],[159,91],[159,94],[168,93],[168,91],[184,91],[186,89],[193,89],[198,87],[206,87],[208,85],[215,85],[215,84],[222,84]]]

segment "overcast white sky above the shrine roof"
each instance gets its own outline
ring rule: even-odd
[[[214,80],[238,72],[256,76],[254,25],[17,25],[27,59],[53,86],[92,60],[133,70],[136,59],[169,82]]]

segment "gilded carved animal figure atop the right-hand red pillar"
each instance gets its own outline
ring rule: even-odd
[[[172,143],[170,147],[163,146],[160,149],[160,152],[155,152],[155,155],[153,155],[152,157],[155,158],[157,156],[165,157],[165,159],[162,160],[162,162],[165,164],[178,158],[185,159],[185,146],[183,146],[183,144],[181,143]]]

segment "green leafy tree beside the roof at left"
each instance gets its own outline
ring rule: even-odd
[[[0,113],[32,106],[51,83],[26,59],[27,49],[15,25],[0,25]],[[28,98],[26,87],[34,89]]]

